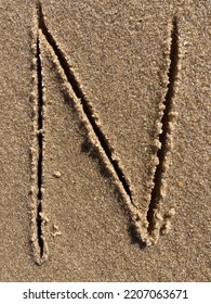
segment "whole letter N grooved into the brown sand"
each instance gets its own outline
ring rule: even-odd
[[[58,61],[58,64],[65,75],[65,78],[69,83],[71,89],[75,92],[75,96],[81,104],[82,115],[85,117],[85,121],[89,124],[89,129],[92,130],[94,136],[97,139],[98,148],[102,154],[105,154],[106,160],[109,163],[110,170],[115,176],[115,179],[120,185],[121,191],[124,193],[126,205],[130,212],[132,224],[135,228],[135,232],[141,243],[151,244],[157,241],[157,238],[154,237],[154,230],[159,230],[156,219],[156,211],[159,208],[160,195],[161,195],[161,186],[163,182],[163,172],[166,166],[166,157],[169,152],[168,148],[168,136],[170,135],[170,115],[172,111],[172,99],[175,91],[175,83],[179,73],[179,33],[177,33],[177,21],[173,18],[172,30],[171,30],[171,40],[170,40],[170,65],[168,72],[169,85],[167,88],[167,94],[163,100],[164,111],[161,117],[162,132],[159,136],[159,141],[161,143],[160,149],[157,152],[157,157],[159,164],[156,166],[155,176],[154,176],[154,188],[151,190],[151,199],[148,205],[148,211],[146,215],[143,215],[141,211],[135,206],[132,198],[132,190],[130,180],[123,174],[123,169],[120,165],[119,160],[113,157],[113,147],[109,144],[108,138],[103,134],[101,125],[97,123],[96,113],[93,110],[91,102],[85,98],[82,92],[81,86],[77,80],[70,64],[68,63],[64,52],[58,47],[57,42],[53,38],[52,34],[49,31],[45,23],[44,16],[42,13],[41,4],[38,4],[38,27],[45,37],[49,46],[51,47],[55,58]],[[39,30],[38,30],[39,31]],[[42,148],[43,148],[43,132],[42,132],[42,107],[43,107],[43,97],[42,97],[42,73],[41,73],[41,60],[40,60],[40,49],[39,49],[39,35],[37,39],[37,77],[38,77],[38,113],[37,113],[37,125],[38,125],[38,164],[37,164],[37,181],[38,181],[38,195],[37,195],[37,238],[40,248],[40,259],[43,255],[43,236],[42,236]],[[146,218],[145,218],[146,216]],[[156,227],[157,226],[157,227]],[[159,233],[159,232],[158,232]]]

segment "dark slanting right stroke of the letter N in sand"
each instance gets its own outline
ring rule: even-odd
[[[164,173],[167,170],[167,155],[171,149],[171,125],[172,118],[176,115],[173,110],[173,99],[175,96],[176,80],[179,76],[179,28],[176,17],[172,21],[169,47],[169,71],[168,71],[168,86],[163,105],[163,114],[161,117],[161,134],[159,135],[160,148],[157,152],[158,165],[156,166],[154,175],[154,188],[151,190],[151,199],[147,212],[148,233],[154,235],[154,229],[157,226],[158,214],[162,212],[161,201],[163,197],[163,185],[166,182]],[[171,212],[170,212],[171,214]]]

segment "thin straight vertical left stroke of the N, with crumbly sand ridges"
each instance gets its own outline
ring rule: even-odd
[[[34,91],[31,100],[34,104],[34,134],[31,145],[31,244],[34,258],[37,264],[42,264],[48,258],[48,245],[45,242],[43,226],[47,218],[43,216],[43,86],[42,66],[39,41],[39,14],[38,10],[34,13],[32,27],[32,85]]]

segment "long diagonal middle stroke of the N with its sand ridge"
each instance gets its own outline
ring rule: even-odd
[[[42,39],[45,39],[49,50],[52,54],[52,59],[54,60],[62,78],[64,79],[64,85],[66,86],[66,90],[71,99],[74,99],[75,104],[78,106],[78,111],[81,116],[81,121],[85,123],[85,127],[91,135],[92,143],[97,147],[101,154],[104,156],[106,167],[111,172],[115,177],[116,183],[118,185],[121,195],[124,198],[126,204],[128,206],[128,211],[130,212],[131,219],[135,227],[143,226],[147,227],[147,223],[144,221],[144,216],[139,211],[139,208],[133,204],[132,201],[132,187],[130,181],[123,174],[122,165],[120,165],[120,161],[115,159],[113,155],[114,149],[110,147],[108,139],[105,137],[101,129],[100,119],[93,111],[93,106],[84,97],[80,84],[76,80],[74,72],[70,68],[70,64],[68,63],[64,52],[62,51],[58,43],[55,41],[47,25],[44,23],[44,16],[41,10],[41,5],[39,5],[39,36]],[[137,228],[140,229],[140,228]],[[136,230],[137,230],[136,229]],[[140,229],[140,231],[143,229]],[[143,230],[144,233],[146,229]],[[148,236],[144,236],[142,232],[142,237],[140,237],[141,242],[147,242]],[[140,235],[140,233],[139,233]]]

